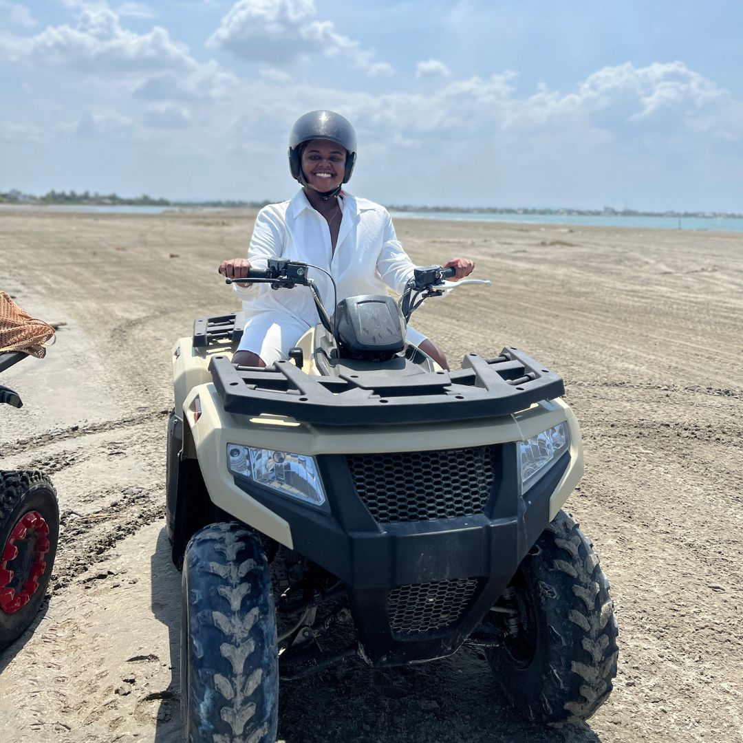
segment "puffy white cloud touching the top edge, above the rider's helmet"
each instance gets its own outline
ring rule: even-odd
[[[344,56],[371,77],[394,74],[392,65],[374,62],[374,53],[337,33],[332,21],[316,18],[313,0],[238,0],[207,45],[244,59],[285,65],[312,54]]]

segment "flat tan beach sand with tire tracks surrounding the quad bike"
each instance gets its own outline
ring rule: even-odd
[[[163,502],[170,348],[236,308],[216,273],[254,212],[0,212],[0,289],[64,322],[3,374],[4,469],[62,509],[51,599],[0,655],[4,743],[180,740],[180,577]],[[588,724],[539,727],[463,649],[282,686],[285,743],[743,741],[743,236],[398,220],[417,262],[476,261],[490,289],[415,324],[447,350],[516,345],[559,371],[586,473],[568,501],[611,580],[619,674]]]

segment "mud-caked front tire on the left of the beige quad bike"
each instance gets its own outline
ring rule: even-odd
[[[259,539],[212,524],[186,546],[181,714],[187,743],[275,743],[276,612]]]

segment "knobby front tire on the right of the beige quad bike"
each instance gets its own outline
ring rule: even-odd
[[[618,632],[609,581],[571,516],[555,516],[510,588],[497,606],[516,609],[518,634],[490,614],[506,639],[487,652],[505,695],[531,721],[588,719],[611,693]]]

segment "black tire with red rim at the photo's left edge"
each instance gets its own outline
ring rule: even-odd
[[[0,646],[17,640],[36,617],[58,541],[59,507],[49,478],[0,471]]]

